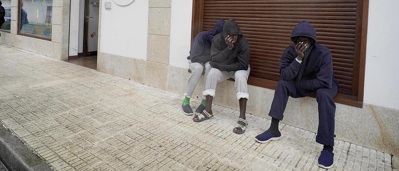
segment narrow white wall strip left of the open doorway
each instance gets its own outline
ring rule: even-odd
[[[79,39],[79,1],[71,1],[71,13],[69,18],[69,56],[78,53]]]

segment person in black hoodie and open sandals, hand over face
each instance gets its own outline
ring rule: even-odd
[[[224,24],[223,33],[213,38],[210,65],[213,68],[209,71],[205,91],[203,91],[203,95],[206,97],[205,110],[202,113],[197,113],[193,120],[200,122],[213,118],[211,106],[213,96],[215,96],[216,84],[234,78],[240,105],[240,116],[233,131],[244,133],[248,125],[245,121],[245,110],[249,97],[247,80],[251,70],[249,68],[249,45],[237,22],[232,18]]]

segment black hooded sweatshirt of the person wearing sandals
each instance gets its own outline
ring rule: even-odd
[[[228,35],[238,34],[237,42],[233,49],[229,50],[225,42]],[[230,18],[223,26],[223,33],[213,38],[211,47],[211,60],[217,65],[211,64],[221,71],[248,70],[249,67],[249,45],[237,22]],[[216,67],[217,66],[217,67]]]

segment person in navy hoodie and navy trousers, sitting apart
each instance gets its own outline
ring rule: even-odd
[[[319,125],[316,142],[324,145],[318,159],[320,167],[329,169],[334,161],[334,96],[338,81],[334,79],[330,50],[316,43],[316,30],[306,21],[297,24],[291,33],[294,45],[288,46],[279,62],[282,80],[277,84],[269,116],[269,129],[255,137],[259,143],[278,140],[281,137],[279,121],[288,96],[299,98],[316,93]]]

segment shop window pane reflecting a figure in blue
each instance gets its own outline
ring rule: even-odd
[[[53,0],[20,0],[20,33],[51,38]]]

